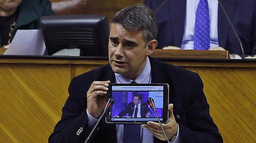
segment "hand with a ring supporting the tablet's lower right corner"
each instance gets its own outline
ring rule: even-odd
[[[169,121],[162,123],[168,139],[173,138],[177,134],[178,125],[173,115],[173,104],[169,104]],[[149,131],[161,140],[166,140],[163,130],[158,122],[148,121],[147,124],[143,124],[142,127],[148,128]]]

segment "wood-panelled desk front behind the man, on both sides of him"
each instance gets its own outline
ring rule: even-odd
[[[256,61],[161,59],[200,74],[224,142],[256,140]],[[107,58],[0,56],[1,142],[47,142],[75,75]]]

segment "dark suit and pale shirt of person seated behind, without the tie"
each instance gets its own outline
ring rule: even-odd
[[[163,1],[145,0],[145,4],[156,10]],[[156,12],[159,27],[158,48],[176,46],[184,49],[183,45],[194,39],[193,25],[197,8],[194,4],[198,4],[199,1],[168,0]],[[211,22],[211,47],[220,46],[231,54],[241,55],[240,44],[218,1],[207,1]],[[246,55],[256,54],[256,0],[221,0],[221,2],[242,41],[244,53]]]

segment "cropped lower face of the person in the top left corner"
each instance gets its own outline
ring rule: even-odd
[[[0,10],[12,11],[15,10],[22,0],[0,0]]]

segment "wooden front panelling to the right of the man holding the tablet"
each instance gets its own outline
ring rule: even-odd
[[[256,139],[255,68],[187,67],[187,69],[201,76],[204,92],[211,107],[211,115],[219,127],[224,142],[237,142],[237,140],[254,142]]]

